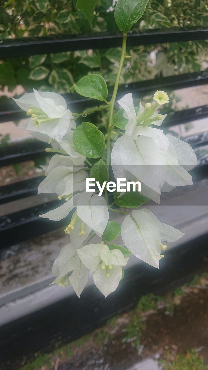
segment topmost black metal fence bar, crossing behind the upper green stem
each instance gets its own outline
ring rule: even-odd
[[[127,45],[138,46],[207,39],[207,27],[175,27],[128,33]],[[14,58],[74,50],[105,49],[121,46],[121,43],[122,34],[112,35],[109,33],[7,39],[0,42],[0,58]]]

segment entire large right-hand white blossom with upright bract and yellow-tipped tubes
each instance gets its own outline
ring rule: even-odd
[[[159,104],[168,102],[167,94],[163,93],[155,93],[156,98],[163,97]],[[155,114],[155,105],[152,107],[150,103],[145,107],[140,104],[136,115],[132,94],[125,95],[118,103],[124,109],[128,123],[125,135],[117,139],[111,153],[115,178],[128,180],[130,177],[132,181],[141,181],[141,194],[157,203],[160,203],[161,191],[191,185],[192,177],[188,171],[197,164],[191,146],[172,135],[164,135],[161,129],[148,126],[162,124],[166,115]],[[159,105],[155,104],[156,107]]]

